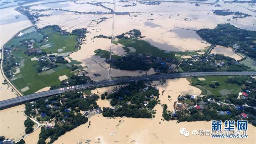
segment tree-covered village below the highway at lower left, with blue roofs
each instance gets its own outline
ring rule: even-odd
[[[53,118],[55,121],[53,126],[41,128],[38,143],[45,143],[47,138],[50,138],[50,143],[53,143],[59,136],[86,123],[88,118],[82,116],[80,111],[98,108],[96,103],[98,98],[97,95],[84,98],[80,92],[66,92],[50,96],[47,99],[40,98],[34,104],[30,102],[25,104],[27,116],[36,117],[38,121],[48,121]],[[41,114],[45,114],[45,116]]]

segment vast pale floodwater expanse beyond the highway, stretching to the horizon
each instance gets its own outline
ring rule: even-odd
[[[112,0],[104,1],[112,2]],[[130,15],[116,15],[114,19],[114,33],[119,35],[132,29],[139,29],[142,32],[142,40],[150,42],[150,44],[168,51],[185,51],[185,50],[204,50],[210,46],[209,43],[202,40],[196,34],[195,30],[200,28],[214,28],[217,24],[230,22],[240,28],[247,30],[255,30],[255,13],[247,10],[245,7],[235,6],[228,3],[220,2],[222,7],[215,7],[214,4],[200,4],[195,6],[190,3],[174,3],[161,2],[160,5],[145,5],[137,4],[132,7],[123,7],[126,3],[117,2],[116,12],[131,12]],[[54,7],[73,8],[73,2],[60,2]],[[104,6],[113,8],[113,4],[103,3]],[[48,8],[50,4],[33,6],[40,9]],[[81,5],[82,7],[82,5]],[[215,9],[230,9],[233,11],[239,10],[247,14],[252,14],[251,17],[232,19],[232,16],[217,16],[213,14]],[[93,8],[92,8],[93,10]],[[84,10],[86,11],[86,10]],[[51,11],[44,11],[44,14]],[[96,20],[102,17],[108,19]],[[82,62],[84,69],[89,72],[87,74],[92,80],[104,80],[108,78],[109,65],[98,56],[94,56],[94,50],[102,49],[110,51],[110,39],[94,38],[99,34],[111,36],[112,33],[112,15],[111,14],[74,14],[72,12],[61,12],[52,16],[39,17],[37,23],[39,28],[49,24],[58,24],[62,29],[71,32],[76,28],[87,28],[90,32],[86,34],[86,38],[82,44],[81,50],[70,54],[70,58]],[[230,19],[230,21],[227,21]],[[92,21],[94,20],[94,21]],[[98,23],[99,22],[99,23]],[[112,54],[126,54],[122,45],[112,44]],[[98,73],[101,76],[95,77],[93,74]],[[146,72],[144,72],[146,73]],[[147,72],[151,73],[151,72]],[[154,74],[154,72],[152,72]],[[116,76],[138,76],[138,71],[123,71],[112,69],[111,77]]]

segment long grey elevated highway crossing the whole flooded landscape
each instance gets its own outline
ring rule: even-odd
[[[38,92],[34,94],[29,94],[26,96],[20,96],[17,98],[11,98],[8,100],[0,101],[0,109],[5,109],[8,107],[16,106],[19,104],[24,104],[25,102],[32,101],[38,98],[52,96],[54,94],[60,94],[63,92],[68,92],[72,90],[82,90],[82,89],[90,89],[97,87],[105,87],[105,86],[113,86],[118,84],[125,84],[132,81],[137,80],[160,80],[166,78],[183,78],[190,76],[248,76],[254,75],[256,76],[256,72],[181,72],[181,73],[170,73],[170,74],[154,74],[148,76],[134,76],[134,77],[126,77],[126,78],[117,78],[113,80],[102,80],[98,82],[92,82],[88,84],[81,84],[76,86],[69,86],[64,88],[59,88],[55,90],[48,90],[44,92]]]

